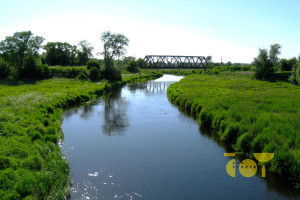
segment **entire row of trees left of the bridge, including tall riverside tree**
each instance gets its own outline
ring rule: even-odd
[[[91,61],[87,72],[81,74],[81,77],[90,75],[92,79],[101,77],[111,81],[121,80],[121,72],[115,66],[115,59],[126,53],[129,39],[109,31],[103,32],[100,39],[104,43],[104,51],[101,53],[104,59],[101,62]],[[1,41],[0,78],[43,79],[49,77],[48,66],[82,66],[93,56],[94,48],[86,40],[80,41],[77,46],[67,42],[48,42],[42,45],[44,40],[41,36],[34,36],[31,31],[23,31]],[[45,50],[42,54],[41,49]],[[100,63],[104,65],[103,70],[99,67]]]

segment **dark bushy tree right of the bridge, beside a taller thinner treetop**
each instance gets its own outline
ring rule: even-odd
[[[255,78],[268,79],[274,74],[274,65],[268,55],[267,49],[259,49],[259,54],[254,58],[253,65],[255,66]]]

